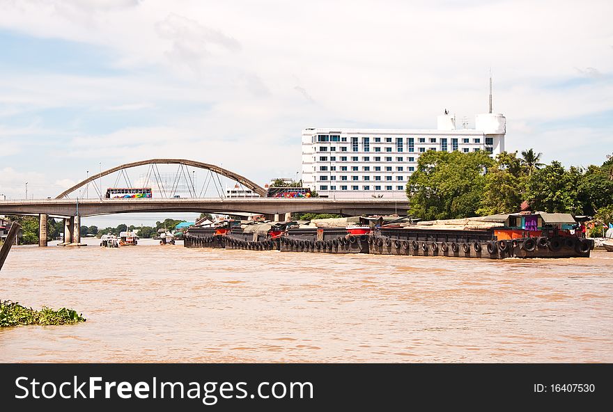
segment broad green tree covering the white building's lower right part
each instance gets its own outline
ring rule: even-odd
[[[407,184],[410,214],[426,220],[476,216],[485,173],[492,166],[486,152],[421,154]]]

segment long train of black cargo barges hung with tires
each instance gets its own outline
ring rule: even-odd
[[[300,228],[297,222],[189,228],[186,247],[309,253],[451,256],[456,258],[589,258],[571,214],[500,214],[483,218],[387,223],[361,218],[344,227]],[[402,219],[398,219],[402,220]]]

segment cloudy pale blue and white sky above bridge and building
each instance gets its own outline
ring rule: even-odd
[[[613,152],[611,1],[0,0],[0,193],[127,161],[300,170],[304,127],[507,118],[507,150]]]

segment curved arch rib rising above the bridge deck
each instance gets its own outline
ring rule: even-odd
[[[100,177],[110,175],[111,173],[115,173],[123,169],[133,168],[137,166],[146,166],[150,164],[181,164],[184,166],[192,166],[194,168],[206,169],[208,171],[212,171],[213,173],[217,173],[219,175],[223,175],[232,180],[235,180],[239,182],[240,184],[242,184],[243,186],[251,189],[255,193],[258,193],[258,195],[260,196],[266,196],[266,190],[263,187],[256,184],[255,182],[252,182],[251,180],[247,179],[247,177],[239,175],[238,173],[234,173],[233,171],[228,171],[228,169],[221,168],[214,164],[208,164],[208,163],[203,163],[201,161],[187,160],[187,159],[148,159],[148,160],[134,161],[132,163],[122,164],[120,166],[110,168],[107,171],[103,171],[96,175],[92,175],[91,177],[88,177],[86,180],[83,180],[82,182],[75,184],[75,186],[73,187],[70,187],[70,189],[66,189],[65,191],[63,191],[58,196],[56,196],[56,199],[68,197],[68,194],[79,189],[80,187],[84,187],[86,184],[93,182],[96,179],[100,179]]]

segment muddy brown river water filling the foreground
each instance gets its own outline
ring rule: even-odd
[[[613,362],[613,253],[559,260],[17,246],[0,362]]]

